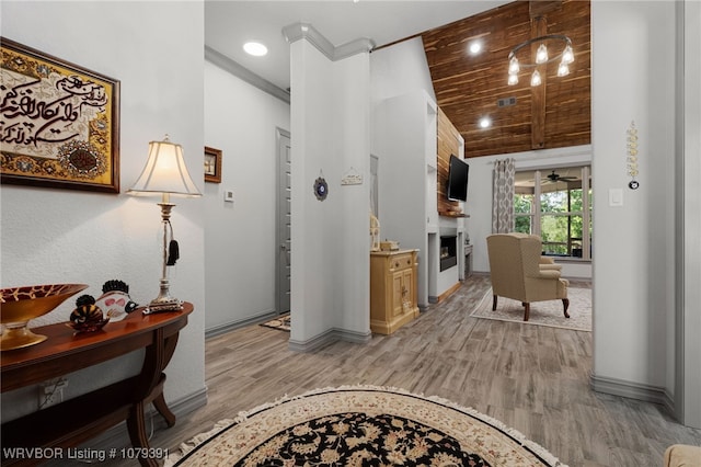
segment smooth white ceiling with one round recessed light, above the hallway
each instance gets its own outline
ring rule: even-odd
[[[283,29],[309,23],[334,46],[367,37],[387,45],[443,26],[509,1],[453,0],[205,0],[205,44],[280,89],[289,88],[289,44]],[[268,47],[251,57],[243,44],[255,39]]]

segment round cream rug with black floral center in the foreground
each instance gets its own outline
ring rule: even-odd
[[[222,420],[165,466],[559,466],[497,420],[402,389],[317,389]]]

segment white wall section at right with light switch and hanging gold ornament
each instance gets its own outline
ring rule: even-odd
[[[594,377],[671,394],[675,310],[675,3],[591,3]],[[640,183],[628,189],[627,128]],[[623,206],[609,191],[623,190]]]

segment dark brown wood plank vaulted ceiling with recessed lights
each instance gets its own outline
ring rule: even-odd
[[[518,84],[508,86],[509,52],[543,30],[572,39],[570,75],[559,78],[556,61],[541,66],[543,83],[531,88],[532,68],[521,67]],[[421,36],[438,105],[464,138],[466,157],[590,143],[589,1],[516,1]],[[471,55],[469,45],[478,38],[483,52]],[[549,45],[562,50],[559,44]],[[519,59],[528,60],[531,52],[535,47],[524,47]],[[501,99],[514,104],[499,106]],[[482,117],[491,118],[492,126],[481,128]]]

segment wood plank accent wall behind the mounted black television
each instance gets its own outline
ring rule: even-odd
[[[438,192],[438,215],[458,217],[462,209],[457,201],[448,201],[448,169],[450,155],[460,157],[462,140],[460,132],[450,122],[446,113],[438,107],[438,155],[436,184]]]

